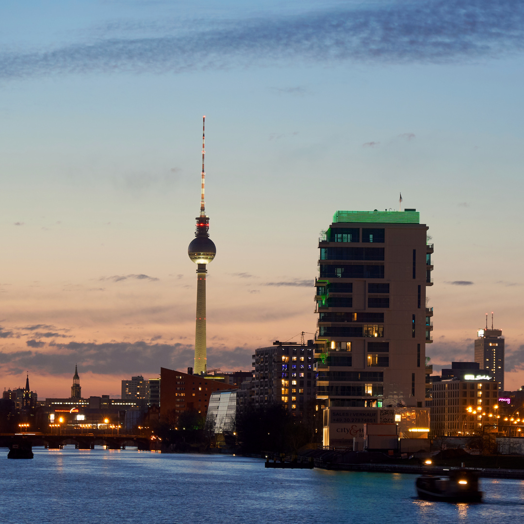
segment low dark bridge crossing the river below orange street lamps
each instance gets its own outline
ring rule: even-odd
[[[160,449],[156,437],[144,435],[127,435],[113,433],[0,433],[0,446],[13,449],[31,450],[32,446],[44,446],[46,449],[58,450],[64,445],[74,444],[79,450],[92,450],[95,445],[105,446],[108,450],[125,450],[126,446],[136,446],[140,451]]]

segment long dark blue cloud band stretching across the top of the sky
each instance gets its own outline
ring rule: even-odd
[[[524,47],[524,3],[397,0],[324,7],[296,15],[145,22],[137,34],[0,54],[0,78],[88,72],[181,73],[281,62],[443,63],[500,57]],[[83,33],[85,34],[85,32]],[[116,36],[118,35],[118,36]]]

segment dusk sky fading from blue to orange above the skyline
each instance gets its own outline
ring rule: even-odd
[[[524,2],[0,6],[0,387],[118,396],[192,365],[206,115],[208,367],[316,330],[337,210],[420,211],[435,370],[494,311],[524,384]]]

